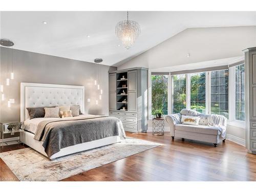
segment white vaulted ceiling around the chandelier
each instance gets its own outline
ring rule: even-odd
[[[131,11],[129,14],[141,27],[141,34],[130,50],[115,36],[117,22],[126,18],[124,11],[1,12],[0,37],[13,40],[14,49],[88,62],[100,57],[102,64],[118,66],[186,28],[256,25],[256,12]]]

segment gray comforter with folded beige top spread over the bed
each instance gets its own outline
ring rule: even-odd
[[[51,157],[61,148],[111,136],[125,138],[122,122],[116,117],[92,116],[41,121],[34,139],[42,141]]]

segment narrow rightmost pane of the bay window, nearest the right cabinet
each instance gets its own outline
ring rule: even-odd
[[[245,120],[245,77],[244,64],[235,67],[235,83],[236,83],[236,119]]]

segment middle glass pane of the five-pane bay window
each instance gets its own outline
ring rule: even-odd
[[[205,72],[190,74],[190,109],[205,114]]]

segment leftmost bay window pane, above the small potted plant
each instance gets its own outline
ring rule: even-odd
[[[152,75],[152,114],[160,110],[168,114],[168,76]]]

